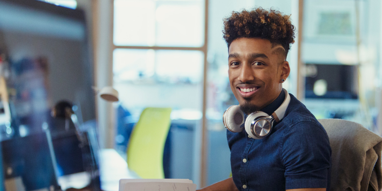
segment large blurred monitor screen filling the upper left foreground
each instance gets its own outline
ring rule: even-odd
[[[74,105],[81,124],[94,124],[87,43],[83,11],[37,0],[0,0],[0,80],[9,90],[4,99],[13,133],[40,132],[43,124],[55,129],[52,108],[63,100]],[[0,125],[6,124],[0,116]]]

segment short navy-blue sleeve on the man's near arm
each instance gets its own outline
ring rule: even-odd
[[[327,188],[331,149],[322,126],[301,121],[290,127],[282,143],[285,188]]]

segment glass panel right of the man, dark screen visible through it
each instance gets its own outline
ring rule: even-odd
[[[304,2],[304,104],[316,118],[355,121],[380,134],[380,16],[371,7],[380,11],[380,2]]]

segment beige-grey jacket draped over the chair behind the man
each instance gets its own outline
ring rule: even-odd
[[[346,120],[318,120],[332,147],[331,191],[382,189],[382,138]]]

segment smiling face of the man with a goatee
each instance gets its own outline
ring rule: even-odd
[[[269,40],[239,38],[228,49],[228,77],[243,112],[249,114],[272,103],[289,75],[281,45]]]

